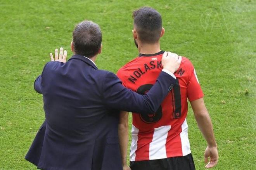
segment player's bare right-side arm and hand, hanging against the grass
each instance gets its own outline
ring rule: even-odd
[[[212,168],[217,165],[219,156],[217,150],[217,143],[214,138],[213,124],[211,122],[211,118],[209,116],[208,110],[204,105],[203,98],[194,100],[190,102],[190,104],[192,106],[197,125],[208,143],[208,146],[206,147],[206,150],[204,152],[204,162],[208,162],[208,157],[210,157],[210,160],[205,167]]]

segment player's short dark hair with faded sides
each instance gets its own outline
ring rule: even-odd
[[[132,17],[140,41],[152,44],[160,39],[162,17],[159,12],[150,7],[142,7],[135,10]]]

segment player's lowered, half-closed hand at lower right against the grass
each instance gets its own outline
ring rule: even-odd
[[[208,162],[208,157],[210,157],[210,161]],[[218,149],[217,147],[209,147],[204,151],[204,162],[208,164],[205,166],[205,168],[212,168],[215,167],[218,163],[219,155],[218,155]]]

